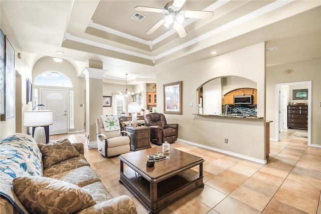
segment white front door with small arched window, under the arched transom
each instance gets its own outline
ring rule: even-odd
[[[66,90],[41,90],[43,110],[52,110],[53,124],[49,126],[49,135],[67,133],[67,91]]]

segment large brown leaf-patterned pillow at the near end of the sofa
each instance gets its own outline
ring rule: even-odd
[[[74,213],[96,204],[79,186],[49,177],[16,177],[13,186],[31,213]]]

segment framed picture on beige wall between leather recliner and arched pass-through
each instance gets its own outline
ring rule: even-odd
[[[163,85],[164,113],[182,114],[182,81]]]

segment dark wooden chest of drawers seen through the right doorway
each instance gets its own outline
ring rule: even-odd
[[[287,106],[287,128],[307,130],[307,105]]]

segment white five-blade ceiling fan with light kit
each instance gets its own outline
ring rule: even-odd
[[[176,29],[181,38],[186,37],[186,31],[183,27],[184,18],[211,19],[214,14],[212,11],[182,11],[181,8],[186,0],[174,0],[165,5],[164,9],[150,8],[145,6],[135,7],[136,11],[154,12],[165,14],[165,17],[153,25],[146,34],[150,35],[159,27],[164,25]]]

